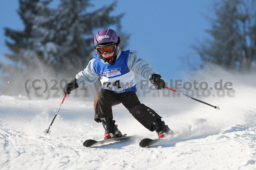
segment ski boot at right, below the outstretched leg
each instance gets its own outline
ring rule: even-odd
[[[152,126],[157,132],[158,138],[163,138],[165,135],[175,134],[160,118],[154,121]]]

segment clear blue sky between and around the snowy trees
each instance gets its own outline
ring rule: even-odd
[[[114,0],[93,0],[99,9]],[[52,6],[56,6],[55,0]],[[187,57],[194,64],[200,62],[191,46],[209,37],[205,29],[211,27],[207,16],[212,1],[208,0],[120,0],[112,14],[125,12],[122,31],[131,34],[126,49],[135,51],[140,58],[148,61],[158,74],[168,81],[181,79],[189,74]],[[3,28],[23,30],[23,23],[17,14],[18,0],[0,2],[0,60],[9,52],[5,46]],[[122,37],[121,37],[122,40]],[[93,43],[93,42],[92,42]],[[86,66],[84,66],[86,67]]]

